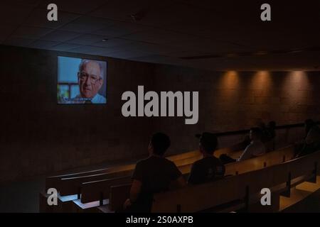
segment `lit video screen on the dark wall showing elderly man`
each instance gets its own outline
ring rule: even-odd
[[[58,57],[58,104],[106,104],[107,62]]]

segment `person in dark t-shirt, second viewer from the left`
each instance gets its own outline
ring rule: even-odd
[[[203,133],[200,137],[199,149],[203,158],[193,163],[188,184],[202,184],[225,175],[225,166],[213,153],[217,148],[218,140],[212,133]]]

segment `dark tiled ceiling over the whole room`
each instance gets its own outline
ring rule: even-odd
[[[50,0],[1,0],[0,43],[211,70],[319,65],[320,1],[274,2],[270,23],[260,21],[258,1],[54,2],[57,22],[46,20]],[[296,48],[310,51],[290,53]],[[257,51],[267,54],[253,55]],[[201,55],[224,57],[179,59]]]

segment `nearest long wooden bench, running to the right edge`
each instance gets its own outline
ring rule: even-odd
[[[292,187],[310,179],[315,181],[316,175],[319,175],[319,162],[320,152],[317,152],[216,182],[156,194],[152,212],[198,212],[208,209],[212,211],[215,207],[223,205],[225,206],[220,211],[250,211],[252,204],[259,204],[262,188],[271,189],[272,194],[278,197],[275,200],[279,200],[280,194],[290,196]],[[274,206],[274,209],[279,210],[279,203]],[[268,207],[260,205],[260,210],[264,208]]]

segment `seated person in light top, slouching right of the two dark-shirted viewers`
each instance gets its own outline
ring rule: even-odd
[[[238,158],[238,162],[250,159],[252,157],[258,157],[266,153],[265,145],[261,142],[262,132],[260,128],[251,128],[250,130],[250,145],[245,148],[245,151]]]

